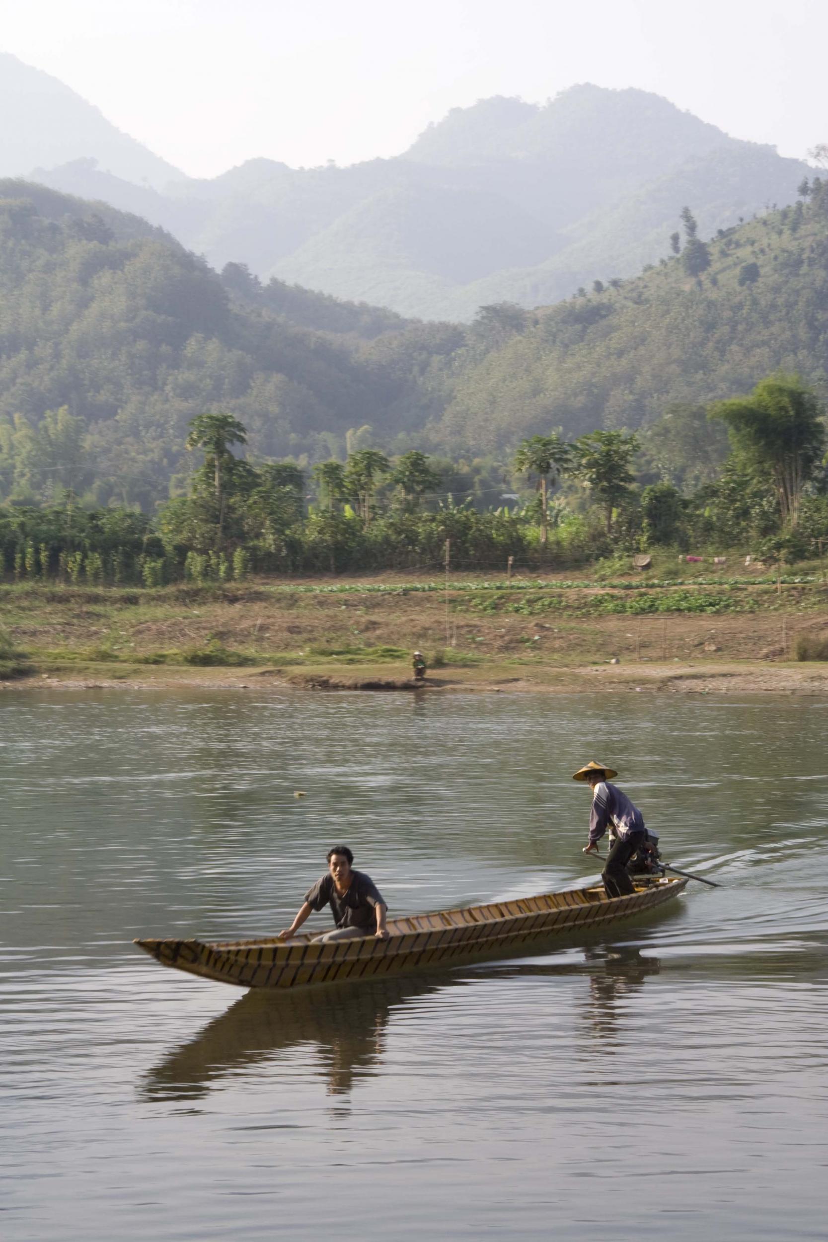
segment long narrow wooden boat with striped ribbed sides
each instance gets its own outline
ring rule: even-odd
[[[541,893],[489,905],[466,905],[389,919],[389,939],[135,940],[163,966],[238,987],[303,987],[408,974],[503,956],[559,936],[601,930],[669,902],[686,879],[637,878],[631,897],[608,898],[602,886]]]

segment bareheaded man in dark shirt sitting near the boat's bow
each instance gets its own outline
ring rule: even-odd
[[[354,871],[354,854],[348,846],[334,846],[328,851],[328,872],[304,895],[302,909],[289,928],[279,932],[279,940],[289,940],[299,930],[313,910],[330,905],[336,924],[333,932],[314,936],[314,940],[354,940],[375,935],[387,940],[385,925],[387,905],[370,876]]]

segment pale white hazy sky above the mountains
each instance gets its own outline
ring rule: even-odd
[[[824,0],[0,0],[0,45],[195,176],[403,150],[492,94],[667,96],[737,138],[828,142]]]

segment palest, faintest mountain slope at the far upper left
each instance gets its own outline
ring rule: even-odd
[[[0,176],[87,159],[137,185],[160,189],[184,178],[70,87],[7,52],[0,52]]]

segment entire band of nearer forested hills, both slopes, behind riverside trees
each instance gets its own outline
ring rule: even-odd
[[[463,328],[217,274],[135,216],[0,183],[0,498],[151,508],[209,410],[254,460],[422,448],[490,476],[524,436],[638,428],[780,369],[828,396],[828,189],[802,189],[709,243],[685,212],[639,277]]]

